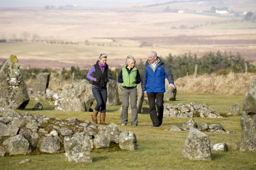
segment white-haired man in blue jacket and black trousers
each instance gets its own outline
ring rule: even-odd
[[[142,73],[141,87],[142,91],[148,95],[149,113],[153,127],[161,126],[163,121],[165,76],[168,79],[169,87],[172,86],[175,89],[171,70],[161,58],[157,57],[155,51],[150,51]]]

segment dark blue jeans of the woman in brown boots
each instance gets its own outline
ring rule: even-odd
[[[101,113],[106,113],[106,103],[108,97],[107,87],[92,86],[92,94],[97,102],[94,110],[98,111],[101,108]]]

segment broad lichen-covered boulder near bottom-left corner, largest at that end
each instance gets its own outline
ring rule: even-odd
[[[23,135],[16,135],[5,139],[2,143],[6,153],[14,154],[29,154],[32,152],[30,143]]]

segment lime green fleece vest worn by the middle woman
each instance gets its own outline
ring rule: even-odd
[[[123,77],[123,83],[122,83],[122,86],[124,87],[136,87],[137,84],[135,83],[135,79],[136,79],[136,76],[137,76],[137,68],[134,67],[132,68],[132,71],[130,72],[130,74],[128,74],[128,71],[126,70],[126,67],[128,65],[125,65],[123,68],[122,68],[122,77]]]

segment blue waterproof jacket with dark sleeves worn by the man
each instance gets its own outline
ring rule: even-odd
[[[155,72],[151,67],[150,62],[147,60],[143,73],[142,73],[142,91],[146,92],[165,92],[165,76],[168,79],[169,84],[174,84],[174,78],[171,70],[167,65],[159,58],[155,67]]]

